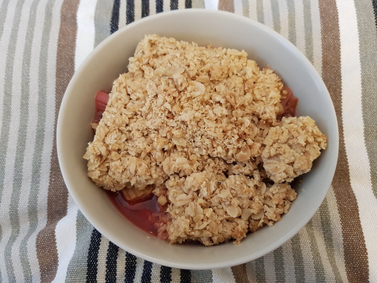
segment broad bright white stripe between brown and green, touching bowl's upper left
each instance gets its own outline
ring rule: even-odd
[[[81,65],[94,46],[94,13],[97,0],[81,0],[77,9],[75,69]]]

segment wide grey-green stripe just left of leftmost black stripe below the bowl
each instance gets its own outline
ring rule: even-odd
[[[68,265],[66,282],[85,282],[92,230],[93,226],[86,220],[84,215],[78,211],[76,217],[76,247]]]

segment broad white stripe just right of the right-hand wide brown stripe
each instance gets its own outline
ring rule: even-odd
[[[360,222],[369,259],[369,280],[377,281],[377,241],[375,215],[377,200],[372,192],[370,166],[363,138],[361,66],[359,35],[354,2],[337,0],[342,68],[342,117],[344,143],[351,187],[359,206]],[[355,215],[357,217],[357,215]]]

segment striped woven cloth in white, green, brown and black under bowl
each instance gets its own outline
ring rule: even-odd
[[[172,269],[118,249],[78,211],[58,166],[58,109],[86,55],[130,22],[184,8],[280,32],[322,74],[338,117],[319,211],[279,249],[232,268]],[[377,282],[376,21],[371,0],[0,1],[0,282]]]

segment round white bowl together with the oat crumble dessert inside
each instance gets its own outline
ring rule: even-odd
[[[99,89],[110,99],[93,139]],[[192,269],[243,263],[293,237],[325,197],[338,146],[308,60],[263,25],[203,10],[146,18],[101,43],[67,88],[57,135],[64,180],[93,226],[137,256]],[[154,194],[160,207],[144,218],[174,244],[127,220],[96,184],[131,206]]]

